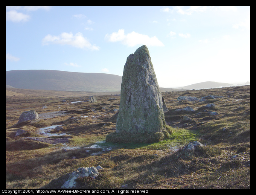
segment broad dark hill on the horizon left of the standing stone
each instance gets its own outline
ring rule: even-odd
[[[58,70],[6,71],[6,87],[55,91],[120,91],[122,76]]]

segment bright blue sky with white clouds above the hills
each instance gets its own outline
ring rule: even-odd
[[[6,71],[123,75],[145,44],[160,87],[250,81],[250,6],[6,6]]]

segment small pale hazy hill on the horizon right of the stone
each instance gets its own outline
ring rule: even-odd
[[[187,86],[179,87],[179,88],[183,88],[183,89],[209,89],[209,88],[229,87],[229,86],[234,86],[234,85],[230,84],[230,83],[225,83],[225,82],[206,81],[206,82],[195,83],[195,84],[192,84],[192,85],[187,85]]]

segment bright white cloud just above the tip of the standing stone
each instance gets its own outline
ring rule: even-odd
[[[145,44],[146,46],[164,46],[155,36],[149,37],[148,35],[139,34],[134,31],[125,35],[123,29],[119,29],[118,32],[113,32],[110,35],[105,35],[105,40],[110,42],[121,41],[122,44],[128,47],[133,47],[138,44]]]

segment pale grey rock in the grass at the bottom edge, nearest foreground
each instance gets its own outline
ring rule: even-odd
[[[93,177],[94,179],[99,175],[98,170],[92,167],[81,167],[73,171],[67,181],[61,186],[62,189],[72,189],[77,187],[76,179],[78,177]]]

